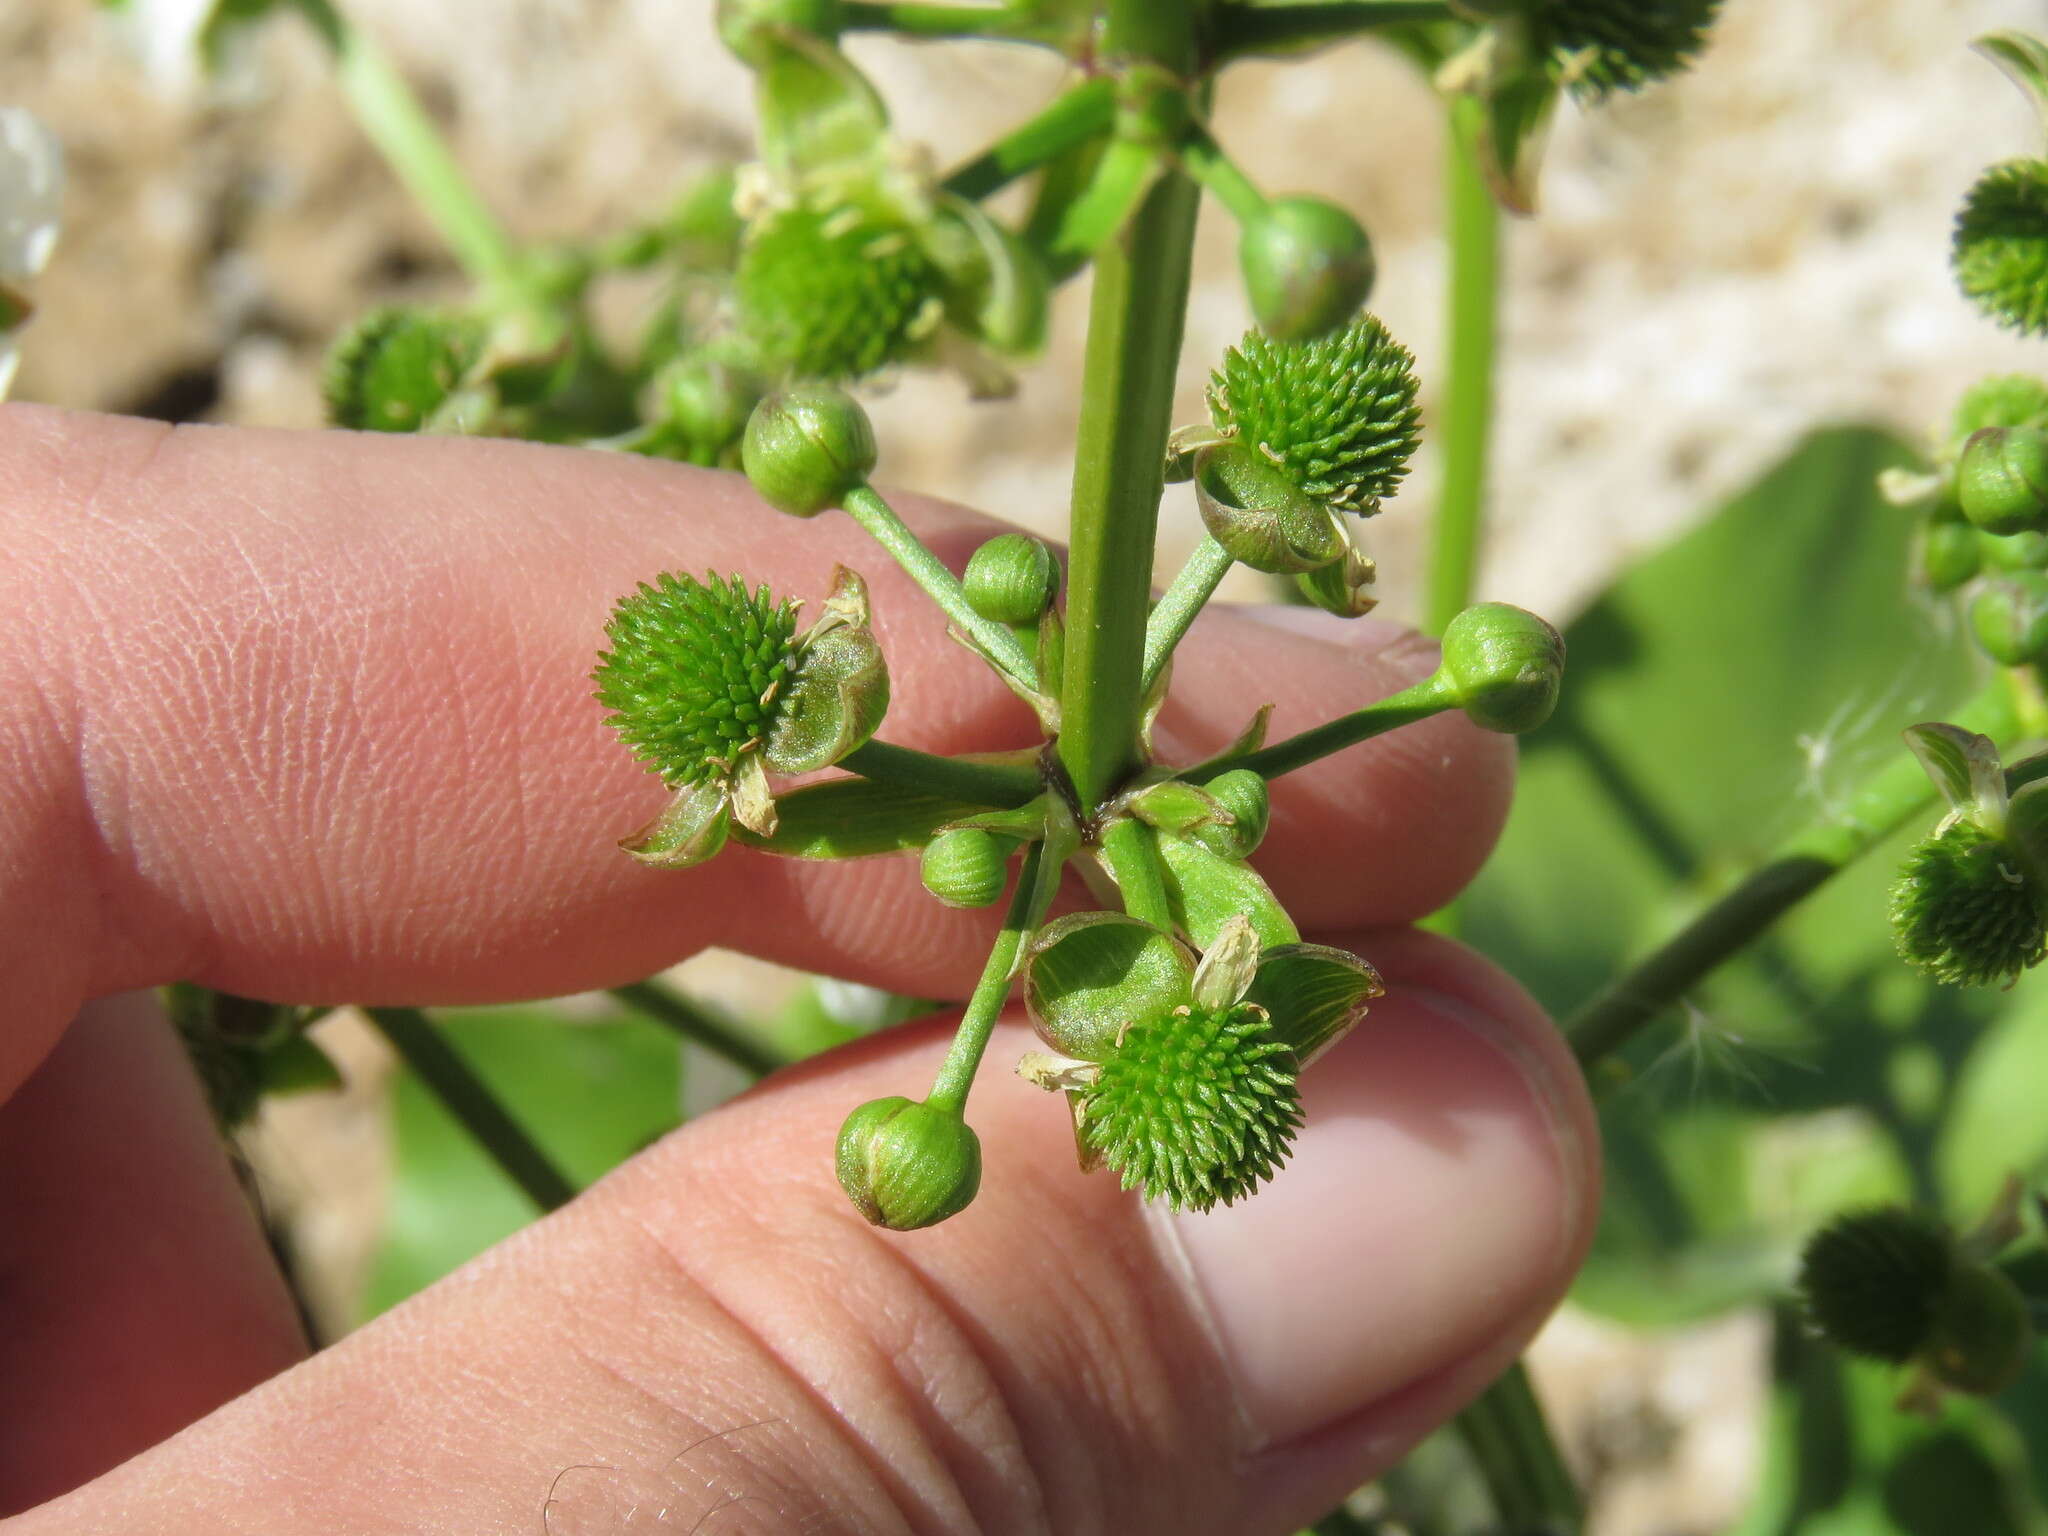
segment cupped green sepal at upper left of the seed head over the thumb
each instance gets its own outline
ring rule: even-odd
[[[1171,934],[1120,911],[1047,924],[1024,954],[1024,1008],[1038,1036],[1104,1061],[1124,1028],[1190,1004],[1196,958]]]

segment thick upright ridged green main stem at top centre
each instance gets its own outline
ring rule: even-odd
[[[1110,0],[1102,53],[1149,59],[1188,78],[1204,12],[1200,0]],[[1104,162],[1124,147],[1135,145],[1110,145]],[[1090,811],[1139,766],[1145,608],[1194,213],[1194,182],[1178,168],[1161,168],[1122,233],[1096,254],[1073,459],[1059,735],[1061,764]]]

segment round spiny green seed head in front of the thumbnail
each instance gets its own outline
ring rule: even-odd
[[[1147,1200],[1231,1204],[1286,1161],[1296,1071],[1262,1008],[1176,1008],[1130,1024],[1081,1090],[1081,1145]]]

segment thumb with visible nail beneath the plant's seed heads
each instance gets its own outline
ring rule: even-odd
[[[1391,993],[1245,1204],[1169,1217],[1077,1174],[1059,1104],[999,1069],[1012,1028],[971,1104],[981,1198],[862,1225],[836,1128],[944,1047],[899,1030],[18,1530],[1294,1530],[1507,1364],[1597,1178],[1577,1073],[1511,983],[1442,940],[1358,946]]]

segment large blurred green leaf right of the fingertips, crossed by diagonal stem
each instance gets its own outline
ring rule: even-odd
[[[1815,434],[1567,633],[1571,682],[1526,739],[1513,817],[1464,907],[1464,936],[1556,1014],[1980,686],[1960,627],[1903,604],[1913,518],[1872,485],[1905,461],[1880,432]],[[1602,1114],[1610,1182],[1581,1300],[1642,1323],[1757,1298],[1843,1204],[1980,1190],[2001,1155],[2048,1149],[2048,1120],[1987,1100],[1970,1114],[2003,1137],[1972,1133],[1946,1155],[1968,1171],[1939,1167],[1987,1022],[2048,1028],[2036,979],[1972,995],[1892,952],[1886,887],[1942,811],[1929,797],[1925,825],[1628,1053],[1634,1081]]]

